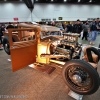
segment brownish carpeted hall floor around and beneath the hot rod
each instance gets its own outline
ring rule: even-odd
[[[94,46],[99,45],[99,39],[100,34]],[[89,44],[89,41],[80,38],[79,42]],[[68,96],[69,88],[62,78],[61,68],[50,75],[31,67],[12,72],[9,58],[4,50],[0,50],[0,100],[74,100]],[[83,100],[100,100],[100,88],[92,95],[83,96]]]

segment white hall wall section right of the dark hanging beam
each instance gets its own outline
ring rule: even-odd
[[[56,18],[58,20],[58,17],[63,17],[64,21],[87,20],[87,18],[100,17],[100,5],[36,4],[34,14],[39,19]]]

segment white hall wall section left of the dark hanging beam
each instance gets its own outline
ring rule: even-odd
[[[0,22],[30,21],[30,11],[24,3],[0,3]]]

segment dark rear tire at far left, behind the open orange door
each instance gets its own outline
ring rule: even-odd
[[[9,44],[9,37],[8,36],[4,36],[3,38],[3,47],[5,52],[10,55],[10,44]]]

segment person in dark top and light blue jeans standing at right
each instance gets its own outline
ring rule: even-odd
[[[90,23],[90,34],[91,34],[90,44],[95,44],[94,42],[98,35],[97,23],[95,22],[95,19],[93,19],[93,21]]]

